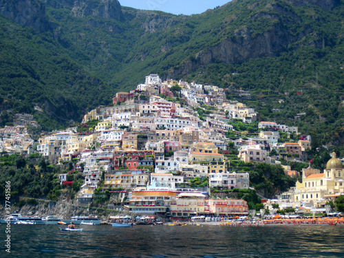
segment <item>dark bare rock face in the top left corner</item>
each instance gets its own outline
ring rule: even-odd
[[[37,0],[0,0],[0,12],[4,17],[21,26],[34,28],[39,32],[50,30],[45,17],[45,6]]]

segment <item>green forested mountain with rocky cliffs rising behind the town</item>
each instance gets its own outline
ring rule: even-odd
[[[343,6],[237,0],[184,16],[116,0],[0,0],[0,107],[53,129],[158,73],[224,87],[228,98],[247,90],[241,101],[262,119],[341,147]],[[5,113],[0,125],[10,121]]]

